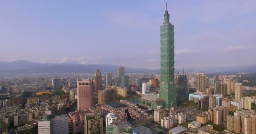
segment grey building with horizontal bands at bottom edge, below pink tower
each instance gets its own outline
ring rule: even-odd
[[[53,134],[69,134],[69,121],[67,114],[54,116],[51,120]]]

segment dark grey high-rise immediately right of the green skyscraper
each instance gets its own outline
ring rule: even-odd
[[[177,75],[175,77],[176,99],[177,101],[185,101],[189,96],[189,83],[187,75]]]

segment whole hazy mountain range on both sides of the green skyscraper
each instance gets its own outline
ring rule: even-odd
[[[52,63],[35,63],[27,60],[18,60],[13,62],[0,61],[0,75],[2,74],[31,74],[31,73],[94,73],[97,68],[104,72],[117,72],[117,65],[107,64],[52,64]],[[198,71],[209,71],[210,68],[198,69]],[[189,68],[187,67],[187,71]],[[190,69],[192,70],[192,69]],[[195,69],[193,69],[195,70]],[[237,72],[256,72],[256,66],[252,67],[226,67],[225,69],[211,67],[211,72],[226,72],[226,73],[237,73]],[[125,73],[160,73],[160,69],[136,69],[125,67]]]

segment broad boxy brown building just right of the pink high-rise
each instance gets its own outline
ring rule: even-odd
[[[105,104],[117,100],[117,91],[114,89],[100,90],[98,92],[98,103]]]

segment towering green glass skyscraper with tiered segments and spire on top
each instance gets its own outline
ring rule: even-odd
[[[164,23],[160,26],[161,43],[161,82],[160,97],[165,100],[164,108],[176,107],[176,93],[174,84],[174,26],[169,22],[167,10],[164,14]]]

